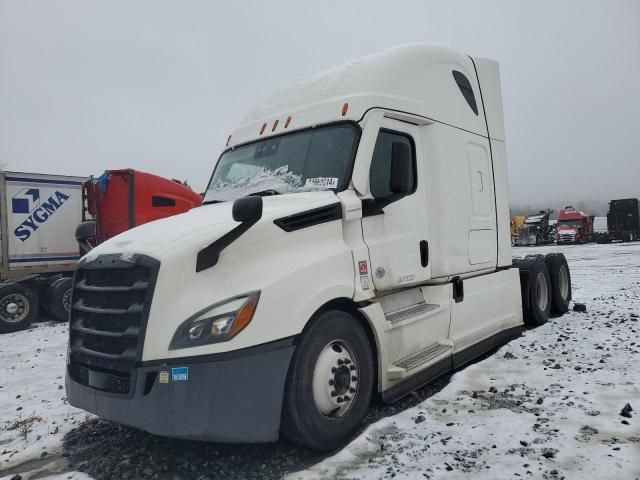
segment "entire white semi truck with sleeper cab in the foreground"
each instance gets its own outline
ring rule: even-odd
[[[567,311],[512,259],[496,62],[410,45],[312,76],[230,136],[205,204],[75,274],[69,401],[154,434],[332,449],[393,401]]]

